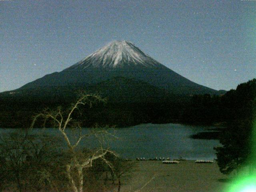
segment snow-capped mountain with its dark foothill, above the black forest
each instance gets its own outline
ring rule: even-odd
[[[139,87],[136,86],[137,83],[140,84]],[[110,87],[111,89],[108,89]],[[61,72],[48,74],[6,93],[31,97],[54,94],[55,98],[58,98],[58,94],[72,94],[79,89],[101,92],[104,96],[117,92],[118,95],[143,92],[142,95],[146,98],[153,96],[153,93],[154,97],[157,93],[183,96],[222,93],[184,78],[142,52],[131,42],[117,40]]]

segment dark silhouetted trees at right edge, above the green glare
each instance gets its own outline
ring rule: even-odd
[[[224,109],[228,113],[229,127],[224,130],[220,138],[222,147],[214,148],[220,172],[229,174],[239,170],[252,158],[254,148],[252,139],[253,122],[256,120],[256,79],[230,90],[223,98]],[[231,112],[232,111],[232,112]],[[255,159],[254,159],[255,160]]]

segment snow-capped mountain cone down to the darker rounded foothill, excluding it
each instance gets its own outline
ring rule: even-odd
[[[20,89],[96,84],[120,76],[142,80],[173,94],[220,94],[184,78],[126,41],[114,41],[69,68],[48,74]]]

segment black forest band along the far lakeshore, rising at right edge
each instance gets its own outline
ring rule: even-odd
[[[141,123],[215,124],[218,122],[234,122],[247,118],[252,113],[252,100],[256,95],[256,79],[237,86],[226,94],[170,96],[164,100],[150,102],[128,102],[111,97],[104,104],[95,104],[90,110],[82,113],[83,126],[95,123],[109,126],[132,126]],[[74,92],[72,90],[72,92]],[[76,94],[65,97],[56,94],[54,98],[12,96],[0,98],[0,127],[28,127],[31,117],[44,108],[67,108],[75,100]],[[80,114],[78,114],[79,116]],[[79,116],[80,118],[80,116]]]

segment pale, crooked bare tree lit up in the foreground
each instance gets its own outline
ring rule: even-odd
[[[104,156],[107,152],[114,154],[109,148],[104,148],[102,142],[106,141],[105,136],[109,136],[110,134],[106,130],[95,130],[93,129],[90,134],[82,134],[82,127],[78,120],[72,118],[72,115],[76,111],[79,112],[79,106],[88,105],[92,107],[93,102],[105,102],[106,100],[101,98],[98,95],[92,94],[81,94],[80,98],[76,101],[76,103],[72,104],[71,108],[65,114],[62,111],[62,108],[58,107],[56,110],[52,111],[46,109],[44,112],[37,114],[33,118],[32,126],[34,127],[35,122],[38,118],[42,118],[44,120],[44,126],[49,121],[53,123],[53,126],[58,129],[60,134],[63,136],[68,150],[70,152],[69,160],[66,162],[66,177],[68,178],[70,188],[73,192],[83,192],[84,191],[84,179],[85,174],[84,170],[86,168],[92,167],[92,162],[98,158],[101,158],[108,164],[110,167],[112,166],[110,162],[108,162]],[[71,128],[72,130],[78,131],[78,137],[72,142],[70,136],[67,134],[67,128]],[[93,154],[84,154],[78,149],[78,145],[81,140],[89,137],[91,134],[94,134],[96,138],[98,138],[98,142],[100,144],[100,148],[95,150]]]

